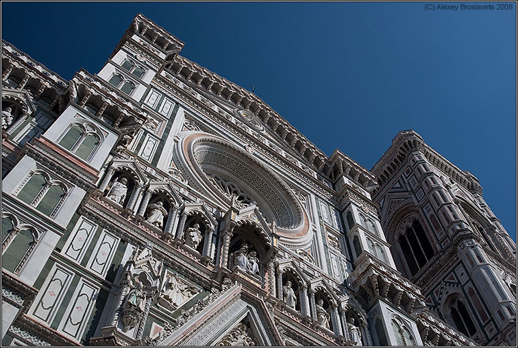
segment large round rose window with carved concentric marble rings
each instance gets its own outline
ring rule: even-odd
[[[268,223],[275,220],[275,232],[292,244],[310,238],[308,216],[290,188],[271,169],[249,153],[222,138],[182,132],[175,145],[175,162],[190,184],[223,207],[230,207],[232,195],[253,200]]]

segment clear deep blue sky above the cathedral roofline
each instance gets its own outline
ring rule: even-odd
[[[478,177],[516,240],[515,5],[3,1],[1,28],[71,79],[81,68],[98,73],[142,12],[185,42],[186,58],[255,86],[328,155],[338,147],[371,169],[397,132],[415,129]]]

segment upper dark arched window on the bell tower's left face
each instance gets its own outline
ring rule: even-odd
[[[399,236],[399,247],[412,275],[415,275],[434,256],[434,249],[421,223],[417,220],[414,220],[412,225]]]

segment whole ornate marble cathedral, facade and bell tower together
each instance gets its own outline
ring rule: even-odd
[[[138,14],[66,81],[2,42],[3,345],[516,345],[516,247],[399,132],[370,171]]]

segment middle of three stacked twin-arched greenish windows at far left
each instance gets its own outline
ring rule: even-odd
[[[66,198],[66,186],[42,173],[32,173],[16,197],[48,216],[55,216]]]

